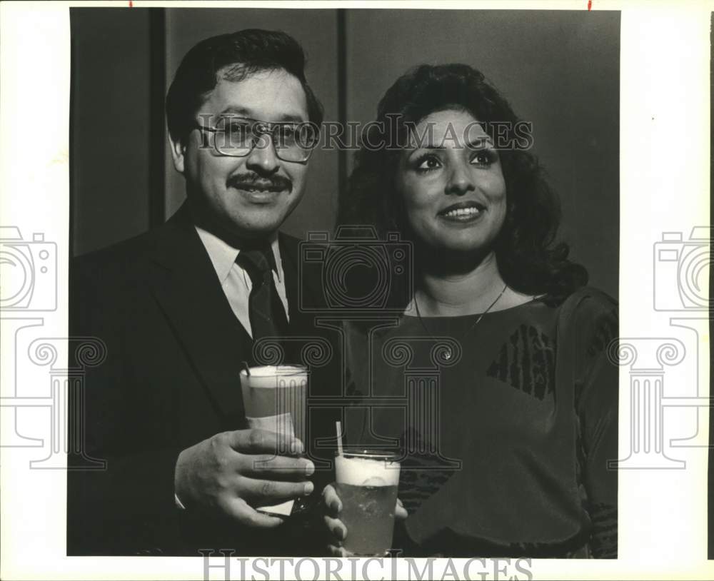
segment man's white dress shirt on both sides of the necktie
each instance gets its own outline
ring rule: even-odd
[[[248,331],[248,335],[252,337],[253,330],[251,328],[248,299],[251,296],[253,283],[246,269],[236,264],[236,258],[240,250],[233,248],[233,246],[222,241],[218,236],[203,230],[203,228],[196,226],[196,232],[198,232],[198,237],[201,238],[203,246],[206,247],[208,258],[211,258],[213,269],[216,271],[218,282],[221,283],[221,288],[223,288],[223,293],[226,294],[228,304],[231,305],[233,313],[241,325],[243,325],[243,328]],[[278,296],[280,297],[281,303],[283,303],[285,315],[289,321],[288,296],[285,292],[285,276],[283,274],[283,263],[280,258],[280,245],[278,244],[277,235],[271,242],[271,248],[273,249],[276,265],[276,268],[273,269],[273,281],[275,281]]]

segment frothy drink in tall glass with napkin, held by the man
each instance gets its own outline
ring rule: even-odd
[[[305,443],[307,368],[301,365],[268,365],[251,367],[250,375],[241,371],[243,407],[249,428],[258,428],[288,437],[295,436]],[[276,450],[287,455],[289,450]],[[275,515],[290,515],[293,500],[257,510]]]

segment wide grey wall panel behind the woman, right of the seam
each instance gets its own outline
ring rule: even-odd
[[[369,121],[421,63],[480,69],[533,122],[563,202],[562,236],[595,286],[618,293],[620,14],[348,10],[347,116]]]

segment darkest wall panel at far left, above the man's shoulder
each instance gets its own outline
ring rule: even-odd
[[[149,228],[149,10],[71,9],[74,256]]]

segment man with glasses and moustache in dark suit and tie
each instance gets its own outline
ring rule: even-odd
[[[69,554],[305,550],[286,547],[283,520],[256,507],[313,492],[306,443],[248,429],[238,379],[256,340],[310,329],[297,241],[278,233],[322,121],[303,69],[281,32],[188,51],[166,97],[186,203],[73,266],[72,335],[104,340],[107,359],[86,377],[86,422],[74,427],[84,448],[69,464],[107,466],[69,473]]]

